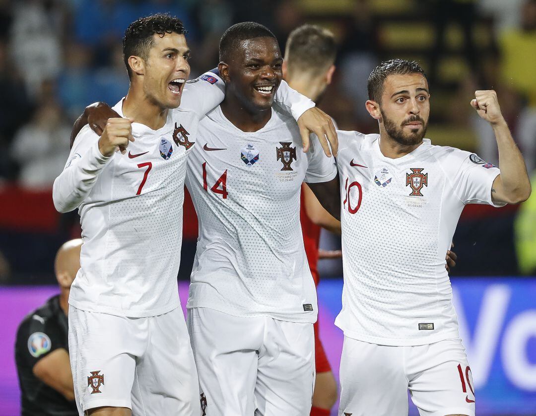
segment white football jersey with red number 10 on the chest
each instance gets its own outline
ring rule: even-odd
[[[490,204],[500,171],[430,140],[398,159],[379,135],[339,131],[343,310],[349,338],[423,345],[457,338],[445,255],[465,204]]]

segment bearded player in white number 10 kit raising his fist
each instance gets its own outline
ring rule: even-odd
[[[344,331],[339,414],[474,416],[443,253],[468,203],[502,206],[531,192],[494,91],[471,106],[495,132],[501,170],[424,139],[430,112],[415,62],[383,62],[368,79],[379,135],[339,132]]]

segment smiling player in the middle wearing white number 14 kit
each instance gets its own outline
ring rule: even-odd
[[[187,304],[207,415],[308,414],[314,383],[314,282],[300,232],[305,180],[338,189],[334,161],[277,107],[282,56],[264,26],[220,41],[226,96],[199,124],[186,184],[199,219]],[[330,203],[337,205],[338,198]],[[336,207],[333,207],[336,209]]]

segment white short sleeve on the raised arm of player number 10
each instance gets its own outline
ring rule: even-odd
[[[452,187],[464,204],[488,204],[504,206],[492,200],[492,186],[501,171],[493,164],[486,163],[474,153],[449,148],[449,155],[443,160],[447,177],[452,178]]]

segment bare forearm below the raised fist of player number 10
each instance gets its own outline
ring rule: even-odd
[[[505,196],[512,202],[522,202],[531,193],[530,179],[527,175],[523,155],[505,121],[492,124],[499,152],[499,168]]]

